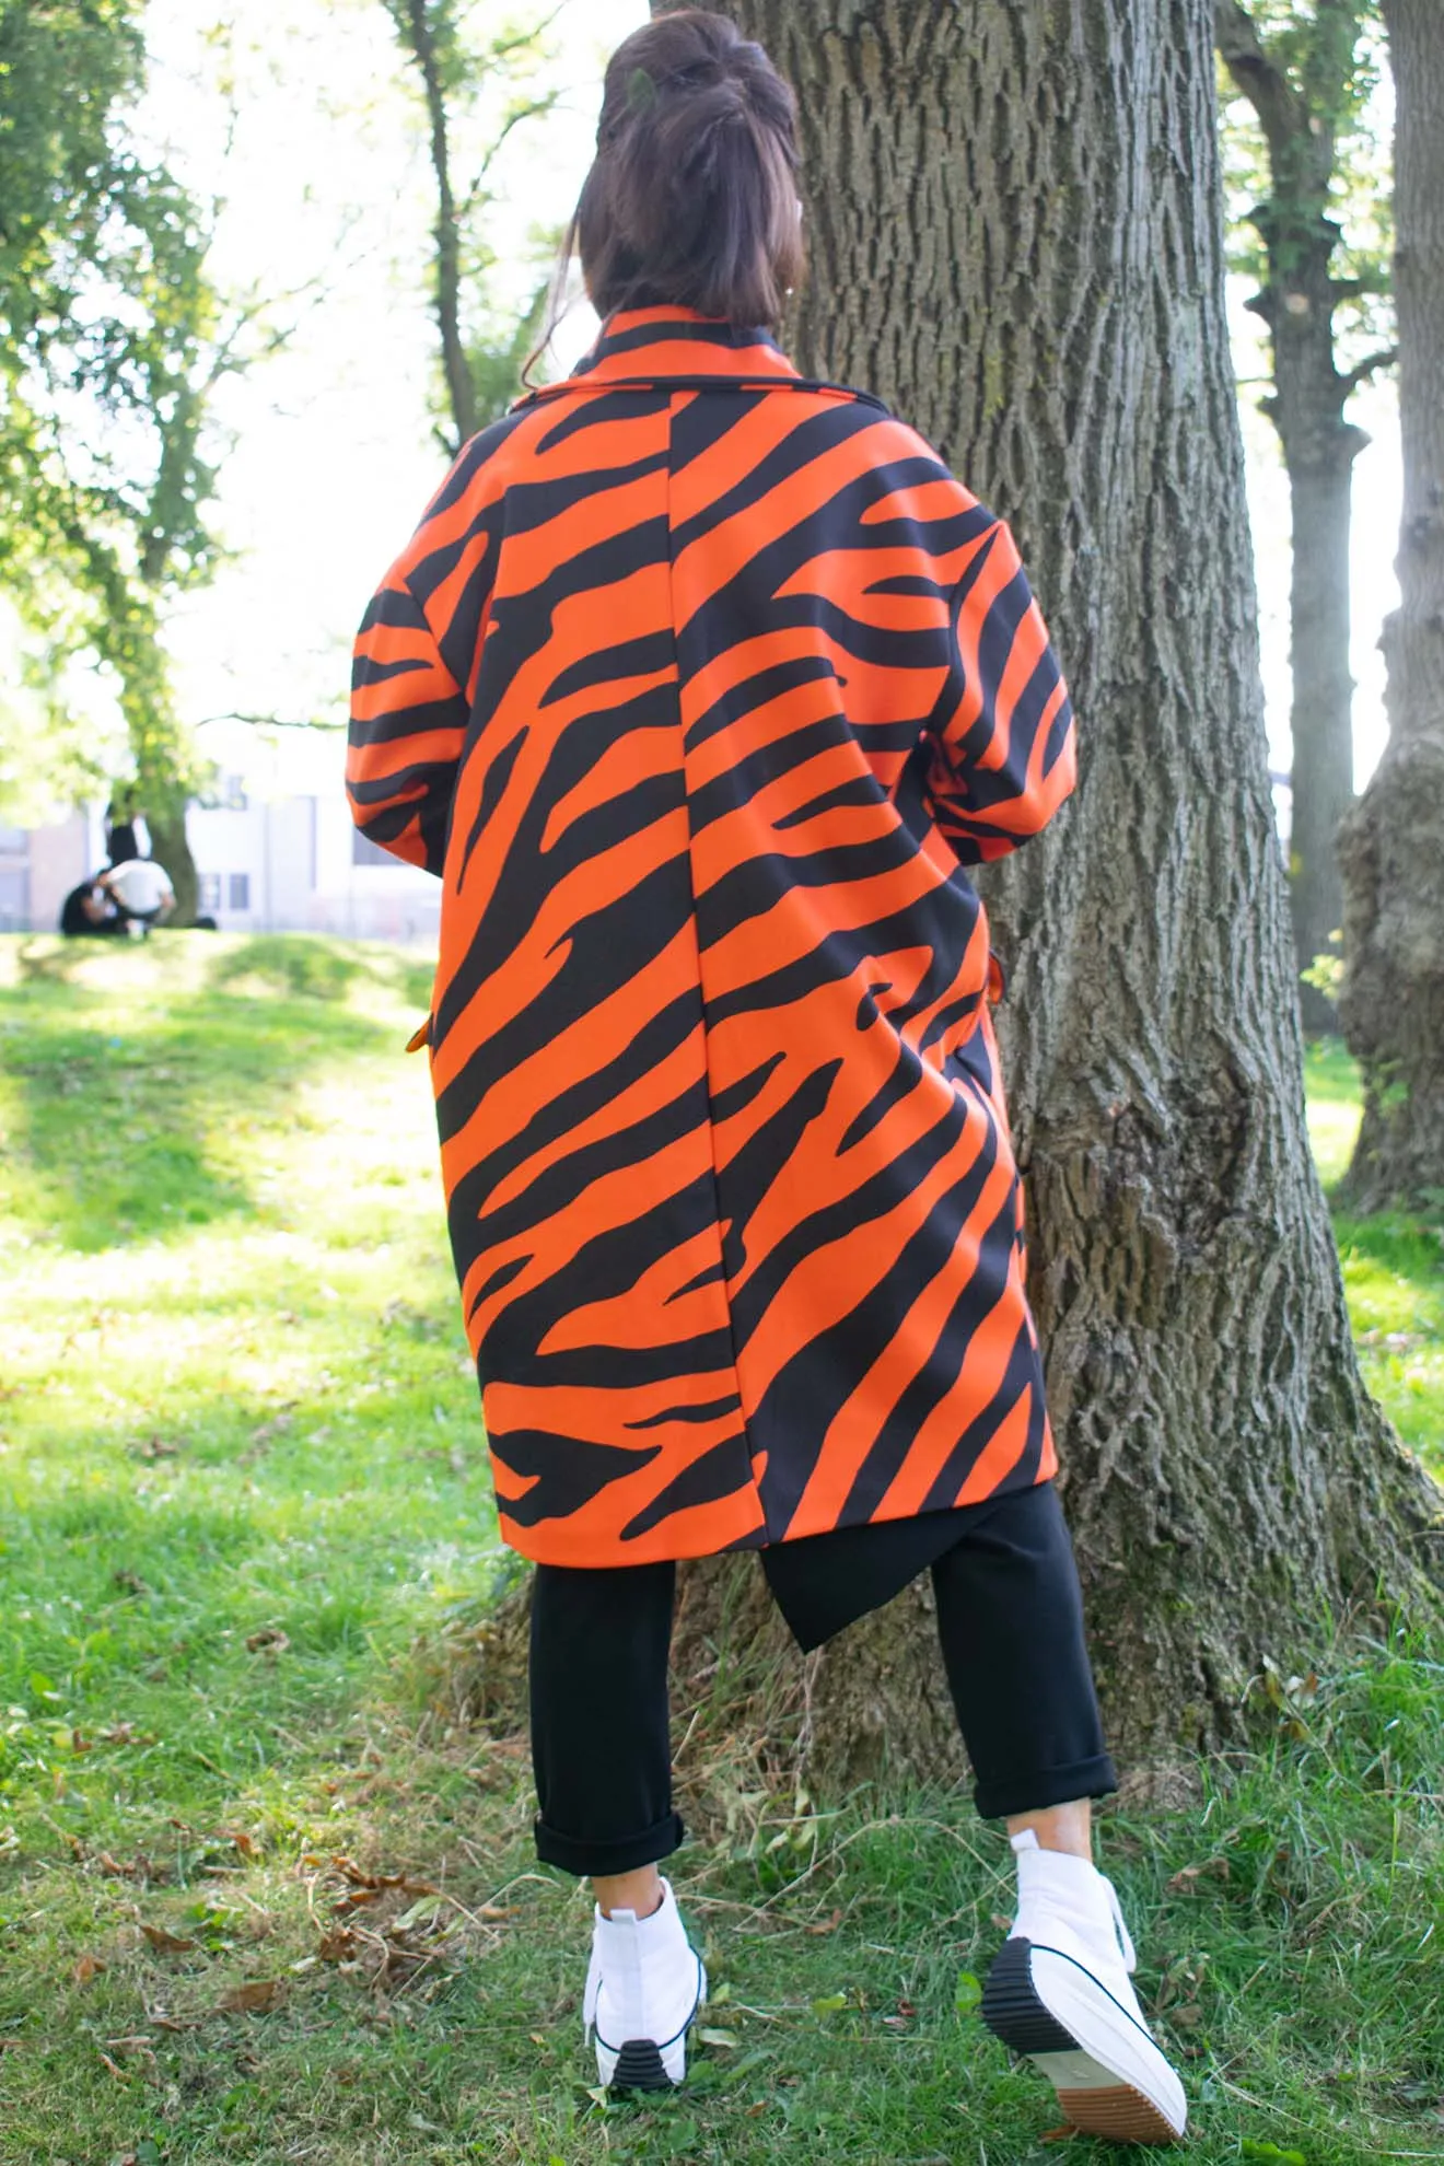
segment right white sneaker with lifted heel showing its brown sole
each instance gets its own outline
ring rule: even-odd
[[[987,1973],[983,2021],[1026,2053],[1089,2136],[1173,2144],[1189,2123],[1184,2086],[1132,1991],[1137,1956],[1113,1882],[1087,1858],[1013,1837],[1018,1917]]]

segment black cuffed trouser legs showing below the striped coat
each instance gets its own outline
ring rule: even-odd
[[[937,1637],[979,1813],[1117,1789],[1052,1482],[946,1518],[957,1540],[931,1564]],[[537,1566],[530,1735],[546,1865],[626,1874],[682,1841],[667,1705],[673,1590],[675,1564]]]

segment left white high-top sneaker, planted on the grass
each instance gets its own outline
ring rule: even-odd
[[[582,2025],[595,2034],[608,2090],[671,2090],[686,2075],[686,2034],[708,1997],[708,1973],[686,1939],[671,1882],[652,1917],[595,1913]]]

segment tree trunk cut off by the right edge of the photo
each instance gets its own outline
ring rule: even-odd
[[[1383,628],[1390,739],[1344,832],[1340,1020],[1364,1064],[1347,1176],[1360,1209],[1444,1189],[1444,15],[1383,0],[1396,89],[1401,609]]]

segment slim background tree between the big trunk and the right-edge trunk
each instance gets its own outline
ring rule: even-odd
[[[1344,418],[1349,399],[1392,347],[1340,368],[1344,329],[1377,334],[1388,266],[1360,232],[1347,271],[1338,208],[1351,136],[1375,84],[1377,0],[1217,0],[1219,54],[1258,119],[1262,199],[1249,210],[1260,249],[1243,262],[1262,284],[1249,308],[1266,323],[1273,420],[1292,507],[1292,771],[1290,903],[1299,970],[1342,925],[1338,823],[1353,804],[1353,678],[1349,674],[1349,516],[1353,461],[1368,444]],[[1375,308],[1360,303],[1375,303]],[[1301,988],[1303,1020],[1329,1029],[1329,999]]]

